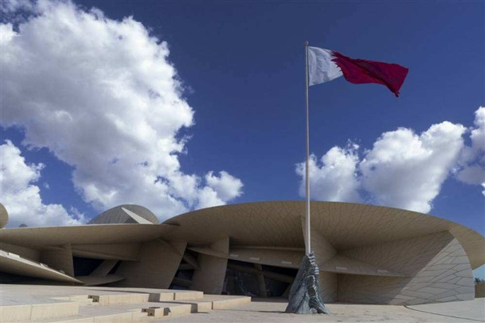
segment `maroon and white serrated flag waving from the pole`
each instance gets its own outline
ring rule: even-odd
[[[354,84],[383,84],[399,96],[407,72],[407,68],[398,64],[353,59],[334,50],[308,46],[309,85],[328,82],[343,75]]]

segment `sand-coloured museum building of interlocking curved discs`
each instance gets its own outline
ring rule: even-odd
[[[0,231],[0,282],[287,296],[305,252],[304,201],[201,209],[160,223],[120,205],[83,226]],[[471,300],[484,237],[435,216],[311,202],[323,301],[415,305]],[[0,225],[8,221],[0,204]]]

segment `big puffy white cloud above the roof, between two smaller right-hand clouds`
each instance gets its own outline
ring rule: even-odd
[[[416,135],[384,133],[360,162],[363,188],[372,201],[427,213],[463,148],[465,127],[443,122]]]

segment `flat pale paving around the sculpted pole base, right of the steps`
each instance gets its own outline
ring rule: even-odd
[[[286,314],[288,303],[282,299],[253,299],[237,308],[213,310],[156,322],[485,322],[485,299],[417,305],[406,308],[393,305],[327,304],[330,315]]]

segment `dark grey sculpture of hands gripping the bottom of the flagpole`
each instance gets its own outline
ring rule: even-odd
[[[315,263],[313,252],[303,257],[298,273],[291,286],[290,300],[285,313],[294,314],[329,314],[320,298],[318,275],[320,271]]]

